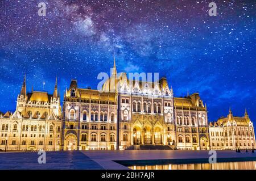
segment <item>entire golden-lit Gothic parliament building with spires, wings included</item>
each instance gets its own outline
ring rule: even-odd
[[[228,113],[228,112],[227,112]],[[0,116],[0,150],[254,149],[253,122],[220,117],[209,123],[198,93],[175,98],[166,78],[143,82],[117,74],[102,90],[72,80],[63,107],[57,90],[27,92],[26,76],[15,112]]]

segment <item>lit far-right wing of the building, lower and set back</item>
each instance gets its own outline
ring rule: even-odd
[[[233,116],[229,110],[227,117],[210,123],[209,133],[212,149],[254,149],[255,146],[253,123],[246,110],[243,117]]]

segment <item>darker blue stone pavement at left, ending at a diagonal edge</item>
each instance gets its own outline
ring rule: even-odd
[[[38,152],[0,153],[0,169],[103,169],[80,151],[47,151],[46,164],[38,163]]]

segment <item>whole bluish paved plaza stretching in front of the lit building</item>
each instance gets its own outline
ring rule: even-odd
[[[0,153],[0,169],[128,169],[117,162],[154,163],[189,162],[209,158],[209,150],[84,150],[46,152],[46,164],[38,163],[38,153]],[[218,150],[217,160],[255,161],[256,153]]]

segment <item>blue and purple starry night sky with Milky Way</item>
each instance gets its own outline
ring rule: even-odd
[[[46,16],[38,3],[46,3]],[[210,2],[217,16],[209,16]],[[97,89],[98,73],[159,73],[175,96],[199,92],[209,120],[243,116],[256,124],[256,2],[171,0],[3,0],[0,2],[0,111],[27,90],[71,79]],[[45,82],[45,85],[43,85]]]

